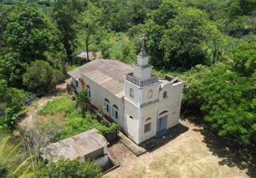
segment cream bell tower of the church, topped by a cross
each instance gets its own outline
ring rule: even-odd
[[[137,63],[132,66],[133,72],[126,74],[124,80],[125,132],[137,144],[154,134],[153,122],[152,129],[151,125],[147,125],[147,129],[150,129],[146,133],[144,126],[146,118],[156,118],[160,87],[158,76],[151,74],[152,66],[149,64],[150,56],[146,54],[146,39],[145,35],[140,38],[142,48],[137,55]]]

